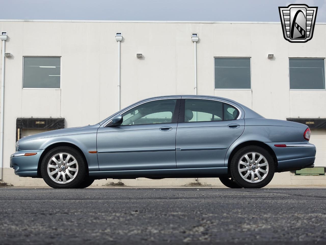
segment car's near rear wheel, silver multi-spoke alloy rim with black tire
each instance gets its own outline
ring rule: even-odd
[[[243,188],[262,188],[273,179],[275,163],[271,154],[259,146],[238,150],[231,160],[232,179]]]

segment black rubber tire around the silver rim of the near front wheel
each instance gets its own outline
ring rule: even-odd
[[[78,163],[78,171],[75,173],[76,176],[73,175],[74,177],[70,181],[69,181],[69,178],[67,177],[67,181],[69,181],[67,183],[57,183],[57,182],[55,182],[55,180],[52,180],[52,178],[48,174],[47,166],[48,166],[50,159],[52,159],[53,156],[55,156],[56,154],[59,154],[59,153],[70,154],[72,157],[75,158],[75,160]],[[67,159],[67,157],[66,157],[66,159]],[[69,171],[69,173],[71,174],[73,172]],[[82,184],[82,182],[84,181],[84,179],[86,177],[86,162],[83,159],[83,157],[81,156],[81,154],[79,153],[79,151],[77,151],[76,149],[69,147],[69,146],[59,146],[59,147],[56,147],[56,148],[53,148],[52,150],[50,150],[43,157],[42,163],[41,163],[41,174],[42,174],[42,178],[45,181],[45,183],[47,183],[52,188],[77,188],[78,186],[80,186]],[[57,175],[54,174],[54,176],[57,176]],[[60,181],[60,179],[59,179],[59,181]]]

